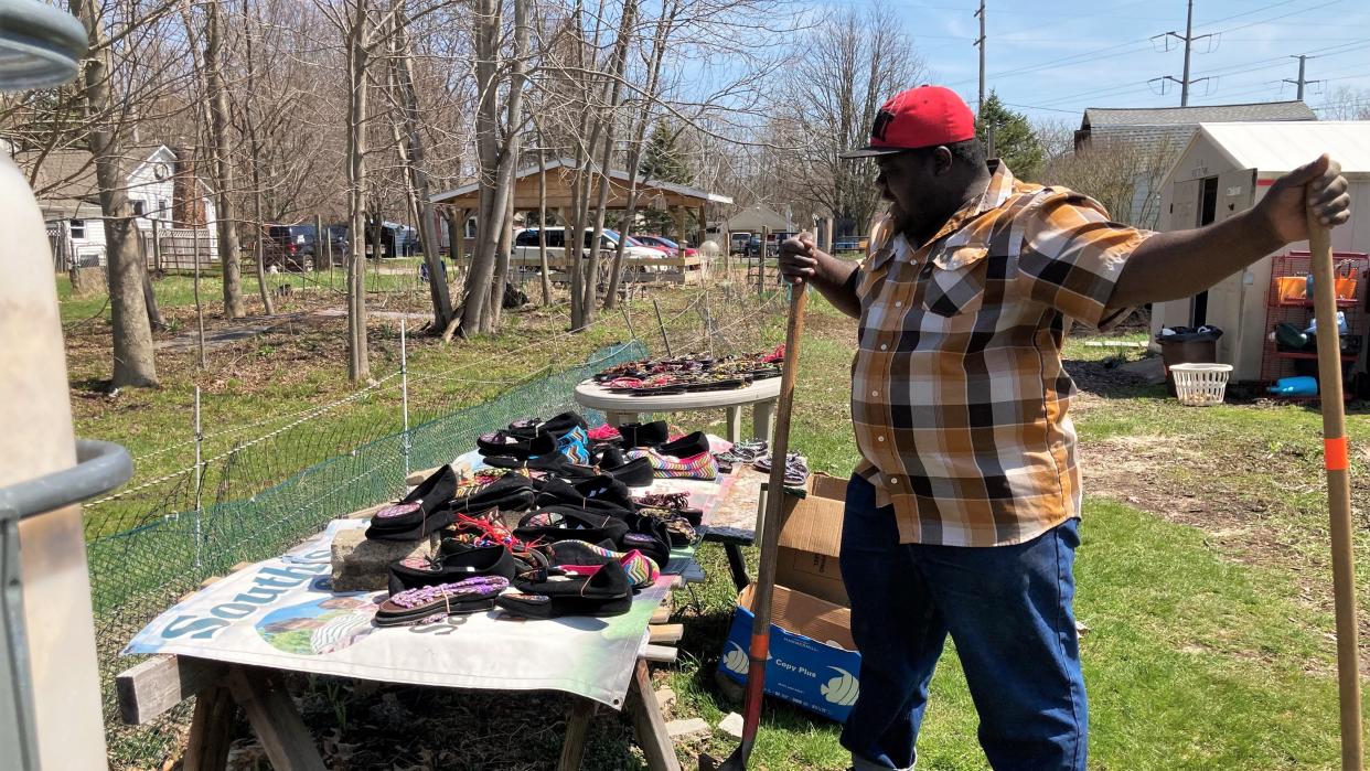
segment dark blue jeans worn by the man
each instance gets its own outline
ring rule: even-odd
[[[893,507],[877,507],[870,482],[852,477],[841,570],[862,664],[843,746],[858,770],[914,766],[927,683],[951,634],[989,764],[1084,771],[1078,545],[1078,519],[1012,546],[900,544]]]

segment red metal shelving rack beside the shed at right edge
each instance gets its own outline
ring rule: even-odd
[[[1366,318],[1366,279],[1367,270],[1370,270],[1370,255],[1363,252],[1334,252],[1332,255],[1332,262],[1334,266],[1345,266],[1349,263],[1352,275],[1356,277],[1356,292],[1352,297],[1338,299],[1337,308],[1347,315],[1347,329],[1348,334],[1359,336],[1360,345],[1355,348],[1355,353],[1347,353],[1341,357],[1343,370],[1349,375],[1352,366],[1360,359],[1360,351],[1365,348],[1365,337],[1367,333],[1367,318]],[[1312,351],[1280,351],[1275,342],[1270,340],[1270,333],[1281,323],[1292,323],[1299,329],[1307,327],[1312,323],[1312,300],[1280,300],[1280,279],[1288,277],[1306,277],[1311,270],[1311,259],[1308,252],[1289,252],[1288,255],[1277,255],[1271,257],[1270,263],[1270,286],[1266,293],[1266,341],[1265,353],[1260,357],[1260,379],[1266,383],[1273,383],[1280,378],[1286,378],[1296,374],[1314,374],[1308,371],[1296,371],[1295,367],[1300,362],[1317,360],[1318,355]],[[1343,271],[1345,267],[1343,267]],[[1352,389],[1347,389],[1349,397]]]

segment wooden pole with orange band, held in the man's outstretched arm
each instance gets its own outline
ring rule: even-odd
[[[1341,344],[1337,334],[1332,233],[1308,211],[1314,315],[1318,320],[1318,396],[1332,516],[1332,587],[1337,614],[1337,681],[1341,697],[1341,768],[1362,771],[1360,661],[1356,645],[1355,557],[1351,551],[1351,471],[1347,415],[1341,400]]]

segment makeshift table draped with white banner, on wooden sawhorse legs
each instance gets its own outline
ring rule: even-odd
[[[700,486],[711,486],[700,496],[708,522],[734,481],[732,475],[717,483],[659,479],[652,490],[693,485],[692,494],[699,494]],[[375,629],[364,612],[374,598],[363,596],[377,592],[334,594],[319,581],[327,578],[323,555],[332,537],[364,526],[378,508],[334,520],[286,555],[234,566],[230,575],[206,581],[148,624],[126,652],[156,655],[116,678],[123,720],[147,723],[196,696],[185,767],[221,770],[227,761],[236,707],[242,707],[274,768],[314,771],[325,767],[323,760],[285,689],[288,672],[489,690],[553,689],[573,697],[559,768],[580,768],[589,722],[600,707],[629,713],[648,767],[680,768],[648,664],[675,660],[671,644],[684,629],[666,623],[670,592],[703,579],[693,548],[673,551],[667,571],[680,574],[663,575],[656,586],[643,590],[625,616],[521,623],[499,614],[477,614],[423,629]],[[292,577],[300,581],[292,585]],[[258,601],[262,608],[252,607]],[[449,623],[453,629],[444,629]],[[211,633],[221,637],[196,644],[196,637]],[[485,637],[489,640],[482,646]],[[434,645],[436,640],[441,645]],[[540,656],[549,645],[564,655]]]

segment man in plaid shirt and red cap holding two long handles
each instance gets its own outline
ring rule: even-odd
[[[1222,223],[1148,233],[1096,201],[985,162],[951,90],[891,99],[870,147],[888,214],[862,264],[800,234],[786,279],[860,319],[841,570],[862,652],[843,730],[855,768],[911,768],[947,635],[996,771],[1085,768],[1074,612],[1080,470],[1060,362],[1071,319],[1093,327],[1189,297],[1292,241],[1306,212],[1349,219],[1319,157]]]

